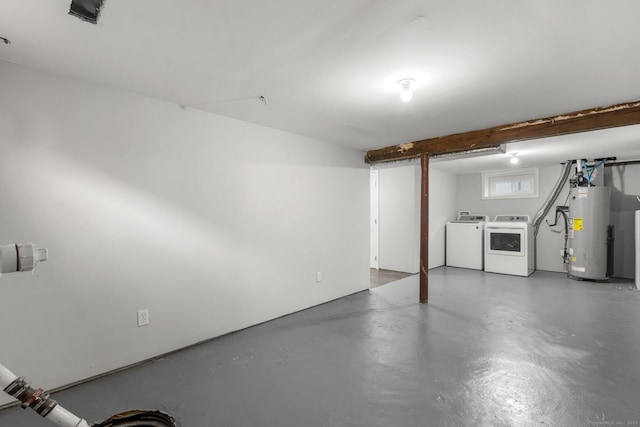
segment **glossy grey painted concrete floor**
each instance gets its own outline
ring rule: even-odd
[[[630,282],[443,267],[428,305],[417,288],[408,277],[54,398],[90,422],[153,408],[183,427],[640,424]],[[0,426],[47,425],[0,412]]]

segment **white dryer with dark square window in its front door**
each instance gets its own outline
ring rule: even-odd
[[[484,271],[529,276],[534,268],[533,243],[528,215],[497,215],[485,224]]]

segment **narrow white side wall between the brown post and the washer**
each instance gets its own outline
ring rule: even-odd
[[[445,264],[445,229],[458,215],[457,192],[457,175],[429,168],[429,268]]]

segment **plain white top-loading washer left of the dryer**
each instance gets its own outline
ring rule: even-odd
[[[486,215],[461,214],[446,225],[446,265],[482,270]]]

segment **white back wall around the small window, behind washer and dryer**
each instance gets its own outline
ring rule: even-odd
[[[558,181],[561,171],[561,165],[540,168],[540,196],[537,198],[509,200],[482,199],[481,174],[458,175],[458,210],[469,210],[475,214],[489,215],[491,219],[498,214],[524,214],[531,216],[533,220],[533,217],[542,207],[542,204]],[[549,212],[550,222],[553,223],[554,220],[555,206],[565,204],[568,192],[569,184],[567,183]],[[544,222],[540,227],[536,249],[538,270],[565,271],[560,256],[560,251],[564,246],[564,228],[559,224],[554,229],[562,230],[562,232],[552,232]]]

